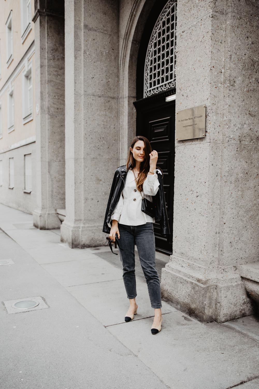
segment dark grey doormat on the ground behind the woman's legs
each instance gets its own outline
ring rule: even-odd
[[[103,251],[103,252],[95,252],[94,254],[97,255],[100,258],[105,259],[106,261],[112,263],[114,266],[122,269],[122,262],[120,260],[120,253],[118,249],[114,249],[114,252],[118,252],[118,255],[113,254],[111,251]],[[165,267],[165,264],[167,262],[162,261],[161,259],[156,258],[156,270],[158,273],[159,281],[161,282],[161,271],[162,268]],[[135,275],[136,277],[141,278],[142,280],[146,281],[140,261],[139,261],[139,254],[135,250]]]

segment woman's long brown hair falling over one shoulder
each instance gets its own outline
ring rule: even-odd
[[[140,163],[139,175],[137,176],[137,179],[136,179],[137,190],[139,192],[142,192],[143,191],[143,183],[144,183],[144,181],[148,175],[149,169],[150,169],[150,156],[149,156],[149,154],[151,153],[151,151],[153,151],[153,149],[151,147],[149,140],[146,137],[142,137],[141,135],[138,135],[137,137],[135,137],[132,140],[131,145],[130,145],[130,147],[132,149],[134,147],[134,144],[137,142],[137,140],[143,140],[143,142],[145,144],[144,145],[144,153],[145,153],[144,161],[142,161]],[[135,166],[136,166],[136,160],[133,157],[133,153],[129,149],[128,159],[127,159],[127,164],[126,164],[127,170],[128,169],[132,170],[133,168],[135,168]],[[156,168],[157,168],[157,166],[156,166]],[[161,172],[162,172],[161,168],[159,168],[159,170],[161,170]]]

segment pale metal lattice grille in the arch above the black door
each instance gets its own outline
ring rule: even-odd
[[[149,40],[145,61],[144,97],[176,85],[176,1],[161,12]]]

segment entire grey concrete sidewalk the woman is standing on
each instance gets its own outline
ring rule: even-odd
[[[122,269],[97,255],[109,247],[70,249],[1,204],[0,228],[0,260],[12,261],[0,266],[1,389],[259,388],[256,317],[202,324],[162,301],[153,336],[139,277],[137,315],[124,321]],[[37,296],[45,306],[8,313],[8,301]]]

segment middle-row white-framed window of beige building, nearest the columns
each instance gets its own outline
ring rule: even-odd
[[[29,83],[31,77],[31,85]],[[30,93],[31,93],[31,110],[30,110]],[[33,119],[33,77],[32,65],[25,67],[23,70],[23,124]]]

